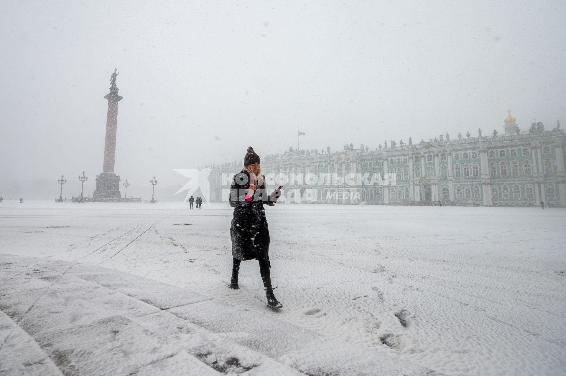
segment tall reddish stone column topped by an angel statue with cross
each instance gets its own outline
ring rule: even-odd
[[[110,76],[110,93],[104,96],[108,100],[108,114],[106,115],[106,141],[104,142],[104,165],[102,174],[96,175],[96,189],[92,198],[121,198],[120,176],[114,174],[114,161],[116,158],[116,127],[118,123],[118,102],[123,97],[118,95],[116,87],[117,69]]]

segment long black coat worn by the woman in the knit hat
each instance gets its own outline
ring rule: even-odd
[[[265,189],[265,177],[262,175],[264,183],[258,185],[252,201],[246,201],[246,193],[250,188],[251,178],[246,170],[242,170],[234,176],[230,186],[230,206],[234,208],[234,217],[230,226],[230,236],[232,239],[232,256],[238,260],[252,260],[257,257],[254,248],[256,237],[261,237],[265,246],[269,250],[269,228],[263,200],[267,196]]]

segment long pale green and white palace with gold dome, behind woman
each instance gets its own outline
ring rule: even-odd
[[[261,158],[264,174],[379,174],[382,184],[336,185],[318,179],[317,184],[295,181],[286,188],[295,188],[298,195],[308,189],[308,202],[364,203],[374,205],[448,205],[484,206],[566,206],[566,174],[564,146],[566,138],[560,123],[544,130],[542,123],[532,123],[520,131],[511,111],[504,120],[504,133],[491,135],[458,135],[451,140],[448,133],[429,141],[368,150],[361,145],[344,145],[340,152],[293,150]],[[212,168],[211,201],[226,201],[226,174],[241,171],[240,163],[225,163]],[[224,175],[224,176],[222,176]],[[328,175],[327,175],[328,176]],[[387,176],[393,176],[393,183]],[[375,180],[374,180],[375,181]],[[300,192],[300,193],[299,193]],[[344,194],[349,192],[348,194]],[[352,192],[358,192],[352,194]],[[342,195],[341,195],[342,193]]]

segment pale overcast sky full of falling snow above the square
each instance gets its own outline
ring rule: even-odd
[[[340,150],[501,133],[508,109],[522,129],[534,119],[554,128],[566,119],[565,10],[4,0],[0,195],[8,182],[100,174],[114,67],[124,97],[115,172],[132,185],[153,175],[177,184],[171,168],[240,161],[250,145],[260,157],[280,153],[297,146],[297,129],[301,149]],[[56,183],[37,189],[58,196]]]

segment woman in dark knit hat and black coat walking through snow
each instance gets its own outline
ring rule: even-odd
[[[230,206],[234,217],[230,227],[232,239],[232,278],[230,288],[238,289],[238,270],[244,260],[258,260],[259,272],[265,288],[267,305],[281,308],[283,305],[273,295],[269,268],[269,228],[263,202],[273,206],[281,192],[276,189],[267,195],[265,176],[261,174],[259,155],[250,146],[244,157],[244,168],[234,176],[230,187]]]

